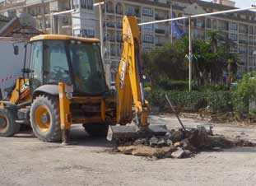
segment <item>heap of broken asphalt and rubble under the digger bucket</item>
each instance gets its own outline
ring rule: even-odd
[[[233,146],[256,146],[256,143],[213,135],[212,127],[198,126],[186,128],[185,131],[171,130],[165,137],[119,141],[115,151],[156,159],[189,158],[199,151],[221,151]]]

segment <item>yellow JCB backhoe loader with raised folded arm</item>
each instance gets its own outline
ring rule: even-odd
[[[31,38],[23,77],[0,101],[0,136],[11,137],[25,124],[40,140],[68,143],[75,123],[82,123],[92,135],[108,132],[109,140],[164,135],[165,126],[147,122],[136,17],[123,17],[116,94],[106,85],[99,44],[96,39],[67,35]],[[125,126],[133,121],[133,106],[136,124]]]

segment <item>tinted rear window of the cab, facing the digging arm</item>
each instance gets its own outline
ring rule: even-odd
[[[75,91],[91,95],[105,92],[105,74],[98,44],[71,40],[68,49],[72,63]]]

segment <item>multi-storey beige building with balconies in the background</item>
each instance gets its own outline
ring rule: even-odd
[[[29,12],[36,18],[37,27],[48,33],[100,39],[99,7],[92,0],[19,0],[3,3],[0,13],[14,16]],[[139,22],[155,21],[174,16],[217,12],[235,8],[235,2],[216,0],[105,0],[102,6],[105,62],[111,63],[112,80],[122,51],[123,15],[137,16]],[[76,9],[71,15],[55,16],[51,13]],[[172,12],[172,13],[171,13]],[[224,39],[234,41],[232,51],[240,54],[239,73],[256,71],[256,16],[245,11],[219,16],[200,17],[193,20],[193,37],[206,39],[208,30],[220,30]],[[188,32],[188,21],[178,21],[179,28]],[[170,23],[141,27],[142,48],[151,50],[171,41]],[[175,40],[175,38],[173,38]],[[109,63],[108,63],[109,65]]]

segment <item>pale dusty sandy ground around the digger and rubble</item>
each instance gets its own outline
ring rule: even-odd
[[[211,124],[182,119],[186,126]],[[170,116],[151,116],[151,123],[177,128]],[[256,142],[256,128],[214,124],[214,133]],[[256,148],[202,152],[191,159],[148,160],[111,154],[112,144],[72,129],[77,146],[40,142],[30,133],[0,137],[1,186],[78,185],[256,185]]]

